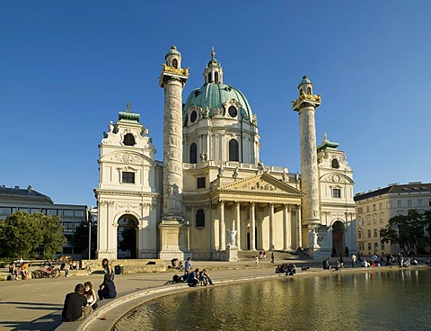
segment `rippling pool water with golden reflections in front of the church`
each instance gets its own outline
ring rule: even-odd
[[[286,276],[204,288],[128,312],[115,330],[426,330],[431,271]]]

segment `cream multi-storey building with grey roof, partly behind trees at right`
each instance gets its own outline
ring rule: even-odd
[[[380,242],[380,230],[396,215],[431,209],[431,183],[391,183],[374,191],[357,193],[355,202],[358,250],[365,255],[398,254],[398,245]]]

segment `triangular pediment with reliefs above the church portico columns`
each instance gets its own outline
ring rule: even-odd
[[[238,182],[224,185],[218,189],[219,192],[259,194],[259,195],[286,195],[289,197],[302,197],[303,192],[294,186],[279,181],[270,174],[256,174],[244,178]]]

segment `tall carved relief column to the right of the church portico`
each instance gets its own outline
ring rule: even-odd
[[[299,96],[293,102],[294,112],[299,113],[301,189],[303,197],[303,246],[310,252],[320,248],[317,243],[317,227],[321,224],[319,203],[319,174],[317,168],[316,125],[314,112],[321,105],[321,95],[312,94],[312,81],[307,76],[298,85]]]

